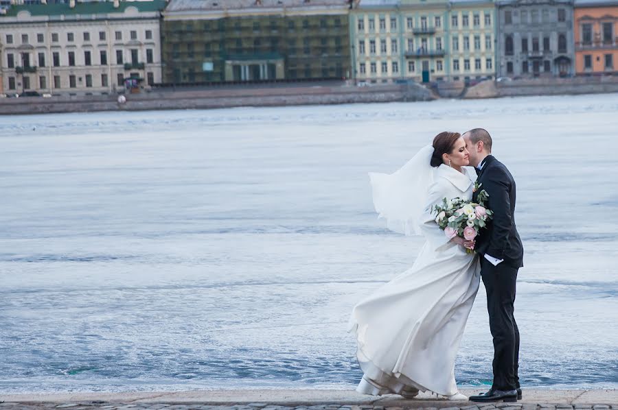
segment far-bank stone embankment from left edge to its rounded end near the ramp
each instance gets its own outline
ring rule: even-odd
[[[117,95],[20,97],[0,99],[2,114],[43,114],[48,112],[138,111],[229,108],[239,106],[299,106],[314,104],[354,104],[393,101],[428,101],[437,95],[415,83],[350,85],[264,86],[252,88],[171,89],[128,94],[119,104]]]

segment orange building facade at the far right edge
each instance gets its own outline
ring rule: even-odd
[[[618,1],[579,1],[575,21],[577,75],[618,73]]]

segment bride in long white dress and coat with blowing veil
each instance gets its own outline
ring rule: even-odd
[[[455,358],[479,289],[478,261],[466,253],[474,242],[449,240],[431,212],[443,198],[470,200],[477,174],[468,163],[464,138],[442,132],[396,173],[369,173],[389,229],[423,234],[425,243],[410,269],[354,306],[360,393],[468,400],[457,391]]]

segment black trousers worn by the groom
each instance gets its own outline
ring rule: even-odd
[[[481,256],[481,278],[487,291],[487,311],[494,338],[493,389],[514,390],[519,385],[519,329],[515,322],[515,284],[518,267],[492,265]]]

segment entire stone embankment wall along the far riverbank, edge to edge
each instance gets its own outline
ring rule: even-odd
[[[618,93],[618,76],[536,78],[496,82],[486,80],[474,86],[464,82],[438,82],[424,86],[405,84],[351,83],[267,84],[220,86],[216,88],[171,89],[126,95],[73,95],[0,98],[0,114],[45,114],[49,112],[139,111],[230,108],[243,106],[300,106],[355,104],[396,101],[430,101],[438,98],[483,99],[526,95],[575,95]]]

